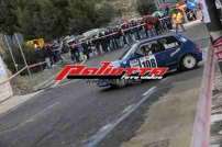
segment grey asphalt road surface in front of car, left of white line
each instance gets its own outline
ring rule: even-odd
[[[122,50],[95,58],[89,64],[112,60]],[[158,94],[151,99],[155,101],[170,90],[171,83],[186,81],[188,77],[200,77],[202,69],[200,66],[192,71],[171,74],[166,80],[152,80],[122,89],[99,89],[80,80],[44,91],[0,116],[0,147],[87,146],[101,128],[120,118],[151,88],[166,84],[165,89],[158,89]],[[122,127],[133,125],[132,129],[122,132],[119,140],[113,140],[113,145],[109,146],[116,146],[130,138],[142,121],[143,116],[129,120]]]

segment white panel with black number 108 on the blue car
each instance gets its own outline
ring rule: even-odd
[[[138,59],[141,63],[141,67],[157,67],[156,58],[154,55],[145,56]]]

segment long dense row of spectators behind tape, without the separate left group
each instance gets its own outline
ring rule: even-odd
[[[81,38],[68,43],[74,63],[122,48],[135,41],[153,37],[171,30],[169,16],[144,16],[138,20],[123,21],[121,25],[108,27],[90,38]]]

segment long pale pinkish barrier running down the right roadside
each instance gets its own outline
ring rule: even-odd
[[[215,63],[212,46],[208,49],[207,55],[190,147],[210,146],[211,99]]]

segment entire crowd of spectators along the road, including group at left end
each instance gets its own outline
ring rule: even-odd
[[[81,63],[93,56],[120,49],[138,39],[166,33],[171,29],[170,16],[145,15],[136,20],[124,20],[120,25],[109,26],[90,37],[76,38],[71,42],[62,38],[47,43],[43,50],[48,67],[57,61],[64,61],[63,53],[70,53],[73,63]]]

